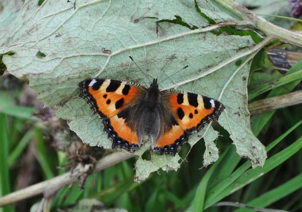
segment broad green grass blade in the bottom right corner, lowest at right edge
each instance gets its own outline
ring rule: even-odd
[[[288,194],[296,191],[297,189],[302,188],[302,174],[294,177],[293,179],[287,181],[286,183],[274,188],[261,196],[253,199],[252,201],[248,202],[247,204],[250,206],[257,206],[257,207],[267,207],[270,204],[276,202],[279,199],[287,196]],[[243,212],[243,211],[253,211],[250,209],[238,209],[235,210],[236,212]]]

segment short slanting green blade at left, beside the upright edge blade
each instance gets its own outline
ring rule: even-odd
[[[9,167],[13,166],[18,160],[23,150],[26,148],[28,142],[34,137],[34,130],[31,129],[26,132],[23,138],[20,140],[16,148],[9,154]]]

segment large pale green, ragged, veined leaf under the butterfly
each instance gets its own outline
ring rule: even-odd
[[[78,0],[45,1],[40,7],[27,1],[9,13],[7,8],[16,2],[5,2],[0,18],[15,17],[11,26],[6,25],[10,33],[2,38],[9,44],[0,48],[0,54],[15,55],[4,55],[3,62],[10,73],[27,75],[39,98],[47,106],[57,105],[56,116],[68,120],[85,143],[111,148],[101,120],[78,97],[78,83],[100,77],[148,86],[148,79],[129,60],[131,55],[149,78],[159,81],[189,65],[160,84],[161,89],[177,87],[220,100],[226,109],[218,122],[230,133],[237,152],[254,168],[263,166],[265,148],[250,130],[247,79],[251,59],[265,43],[257,44],[251,36],[212,33],[219,26],[208,20],[241,21],[231,11],[213,1]],[[190,145],[205,141],[206,151],[200,155],[204,166],[218,158],[217,136],[208,125],[190,137]],[[141,156],[148,148],[149,142],[135,153]],[[136,180],[160,168],[176,170],[179,159],[153,154],[149,166],[151,162],[139,157]]]

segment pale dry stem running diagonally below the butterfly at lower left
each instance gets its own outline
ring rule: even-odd
[[[118,164],[122,161],[125,161],[131,157],[134,157],[134,154],[128,154],[124,152],[114,152],[112,154],[109,154],[103,158],[101,158],[93,172],[99,172],[103,169],[106,169],[108,167],[111,167],[115,164]],[[0,197],[0,206],[4,206],[7,204],[12,204],[14,202],[36,196],[38,194],[43,193],[46,189],[51,187],[63,187],[65,185],[68,185],[70,183],[73,183],[77,181],[77,177],[72,175],[71,172],[67,172],[65,174],[59,175],[57,177],[54,177],[50,180],[43,181],[41,183],[37,183],[35,185],[29,186],[27,188],[15,191],[13,193],[10,193],[8,195],[5,195],[3,197]]]

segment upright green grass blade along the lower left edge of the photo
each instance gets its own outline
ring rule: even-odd
[[[0,196],[11,192],[8,165],[9,135],[6,115],[0,113]],[[12,205],[4,206],[3,212],[14,211]]]

